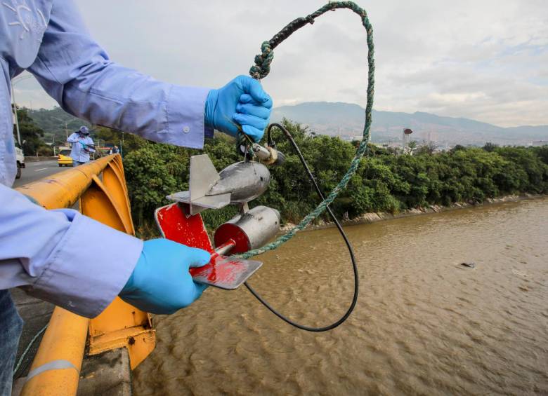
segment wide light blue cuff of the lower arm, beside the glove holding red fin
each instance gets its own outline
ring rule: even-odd
[[[27,292],[93,318],[126,285],[141,256],[143,241],[78,212],[63,212],[72,220],[70,229]]]

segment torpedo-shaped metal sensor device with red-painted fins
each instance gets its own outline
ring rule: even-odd
[[[195,282],[236,289],[262,265],[261,261],[226,254],[261,247],[280,231],[278,210],[266,206],[249,209],[247,204],[261,196],[269,182],[270,171],[263,163],[241,161],[217,172],[206,154],[190,158],[188,191],[167,196],[174,203],[159,207],[155,219],[164,238],[211,253],[209,264],[190,268]],[[212,245],[200,212],[230,204],[239,205],[240,214],[216,229]]]

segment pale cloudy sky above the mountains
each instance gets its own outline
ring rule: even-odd
[[[247,74],[262,41],[324,0],[76,0],[110,57],[155,78],[222,86]],[[374,28],[377,110],[428,111],[501,126],[548,124],[546,0],[358,0]],[[365,106],[365,29],[337,11],[275,50],[263,86],[275,106]],[[52,107],[34,78],[18,102]]]

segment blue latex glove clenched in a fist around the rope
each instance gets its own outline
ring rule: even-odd
[[[205,122],[212,128],[236,136],[237,124],[254,142],[259,142],[270,120],[272,98],[261,83],[248,76],[237,76],[230,83],[210,90],[207,95]]]

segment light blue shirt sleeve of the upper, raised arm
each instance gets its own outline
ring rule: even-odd
[[[91,123],[193,149],[212,135],[204,124],[209,88],[162,83],[112,62],[72,1],[53,1],[29,71],[65,111]]]

